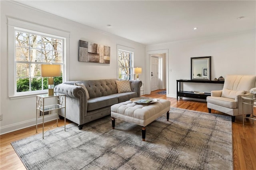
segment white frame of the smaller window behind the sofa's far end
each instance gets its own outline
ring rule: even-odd
[[[130,65],[130,68],[131,68],[131,71],[130,71],[130,77],[129,77],[129,80],[133,80],[134,79],[134,75],[133,75],[133,68],[134,68],[134,49],[133,48],[130,48],[130,47],[126,47],[126,46],[122,46],[122,45],[117,45],[117,77],[119,79],[119,51],[124,51],[124,52],[128,52],[128,53],[131,53],[132,56],[131,56],[131,59],[130,59],[130,62],[131,62],[131,65]]]

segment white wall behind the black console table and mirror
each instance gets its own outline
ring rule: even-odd
[[[239,34],[190,40],[184,42],[149,45],[146,51],[168,49],[168,97],[176,97],[176,80],[190,79],[190,57],[212,56],[212,80],[228,74],[256,74],[255,30]],[[147,80],[148,81],[148,80]],[[186,91],[222,89],[223,85],[184,83]]]

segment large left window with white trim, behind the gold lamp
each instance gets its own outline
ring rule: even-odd
[[[69,80],[70,32],[7,17],[8,96],[23,98],[47,93],[47,77],[41,77],[41,64],[61,65],[55,85]]]

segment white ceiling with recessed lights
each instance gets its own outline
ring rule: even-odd
[[[256,29],[256,1],[17,0],[145,45]],[[238,20],[237,18],[245,18]],[[111,24],[112,27],[107,27]],[[197,27],[197,30],[193,30]]]

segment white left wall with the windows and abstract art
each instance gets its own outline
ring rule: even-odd
[[[90,80],[118,78],[117,44],[134,49],[134,65],[145,67],[145,46],[101,32],[99,30],[54,16],[39,10],[27,8],[15,2],[0,1],[1,6],[1,61],[0,61],[0,133],[18,130],[20,128],[35,125],[36,121],[36,97],[29,96],[22,99],[10,99],[8,97],[8,46],[7,46],[7,16],[42,26],[70,32],[69,75],[67,80]],[[104,25],[104,24],[102,24]],[[78,40],[99,43],[111,47],[110,64],[86,63],[78,61]],[[144,73],[140,80],[145,81]]]

